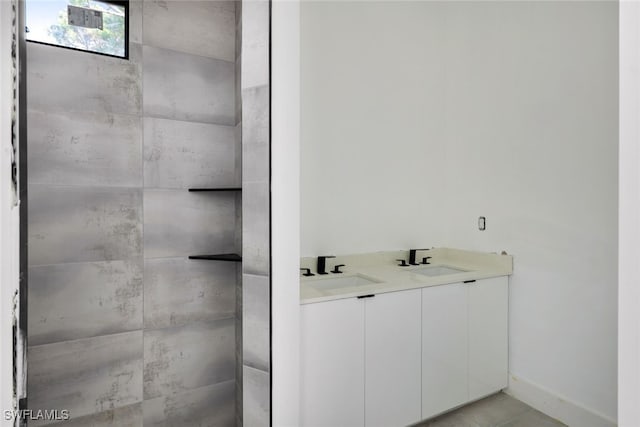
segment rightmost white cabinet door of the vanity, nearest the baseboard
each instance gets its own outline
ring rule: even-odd
[[[507,387],[508,278],[478,280],[469,291],[469,400]]]

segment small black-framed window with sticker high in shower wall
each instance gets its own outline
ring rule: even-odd
[[[28,41],[129,57],[129,2],[27,0]]]

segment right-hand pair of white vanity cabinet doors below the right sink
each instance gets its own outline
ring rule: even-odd
[[[507,387],[508,279],[422,289],[422,417]]]

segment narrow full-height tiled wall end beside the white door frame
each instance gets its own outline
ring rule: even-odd
[[[245,427],[270,425],[270,2],[242,2],[242,398]]]

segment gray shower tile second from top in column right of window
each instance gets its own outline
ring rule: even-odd
[[[235,125],[235,63],[144,47],[144,113]]]

